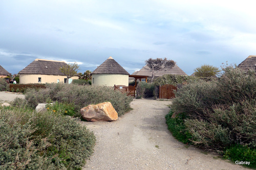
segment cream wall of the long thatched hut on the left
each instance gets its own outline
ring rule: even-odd
[[[41,78],[41,82],[38,82],[38,78]],[[64,83],[64,79],[67,76],[57,76],[57,75],[24,75],[21,74],[19,76],[20,84],[28,84],[28,83]],[[78,76],[74,76],[71,78],[78,79]],[[58,81],[59,80],[59,81]]]

